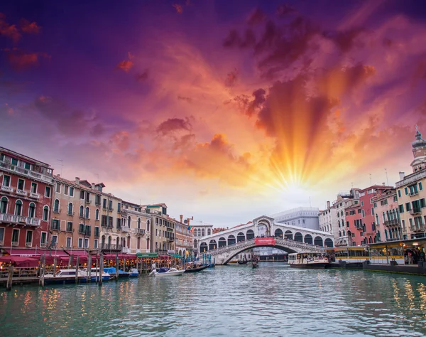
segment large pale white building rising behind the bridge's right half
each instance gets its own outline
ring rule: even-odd
[[[320,230],[319,213],[320,208],[298,207],[270,216],[274,219],[275,223],[284,223],[310,230]]]

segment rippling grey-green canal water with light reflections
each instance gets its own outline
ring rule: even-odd
[[[0,336],[425,336],[426,277],[217,266],[0,291]]]

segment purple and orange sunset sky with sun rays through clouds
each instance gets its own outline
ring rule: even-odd
[[[0,146],[173,218],[393,185],[425,117],[422,1],[0,3]]]

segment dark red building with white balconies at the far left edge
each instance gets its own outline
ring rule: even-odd
[[[0,245],[48,247],[53,169],[36,159],[0,147]]]

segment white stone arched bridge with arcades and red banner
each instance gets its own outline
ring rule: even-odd
[[[263,215],[253,223],[204,236],[196,247],[200,253],[211,254],[216,264],[226,264],[239,253],[255,247],[275,247],[290,253],[317,252],[334,247],[334,237],[320,230],[274,223],[273,218]]]

